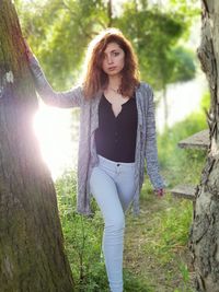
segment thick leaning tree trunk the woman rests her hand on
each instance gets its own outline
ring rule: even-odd
[[[11,0],[0,0],[0,291],[72,292],[57,199],[33,132],[37,98]]]

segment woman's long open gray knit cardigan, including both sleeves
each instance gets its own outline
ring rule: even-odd
[[[56,107],[80,107],[80,139],[78,153],[78,194],[77,210],[79,213],[92,214],[90,205],[90,176],[92,168],[99,163],[96,155],[94,131],[99,128],[99,103],[102,92],[94,98],[84,98],[82,87],[73,87],[67,92],[55,92],[47,82],[43,70],[33,56],[30,58],[30,68],[34,77],[36,90],[43,101]],[[153,107],[153,93],[151,87],[141,82],[136,89],[136,102],[138,110],[138,126],[136,140],[136,191],[132,201],[134,214],[139,213],[139,194],[145,176],[145,160],[147,173],[154,189],[164,187],[159,174],[155,120]]]

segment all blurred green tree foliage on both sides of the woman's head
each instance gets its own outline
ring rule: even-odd
[[[146,0],[131,0],[123,5],[113,3],[113,11],[119,13],[110,15],[110,1],[103,0],[15,2],[28,43],[48,80],[59,90],[79,79],[89,42],[108,23],[120,28],[134,43],[142,79],[154,89],[195,74],[193,56],[177,47],[192,20],[182,8],[164,12]]]

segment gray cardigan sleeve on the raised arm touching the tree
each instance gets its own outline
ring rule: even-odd
[[[47,105],[64,108],[77,107],[81,105],[83,98],[81,86],[73,87],[66,92],[56,92],[48,83],[37,58],[35,56],[31,56],[28,63],[36,91]]]

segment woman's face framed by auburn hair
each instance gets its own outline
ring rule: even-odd
[[[125,52],[116,43],[110,43],[104,50],[102,69],[107,75],[117,75],[125,65]]]

